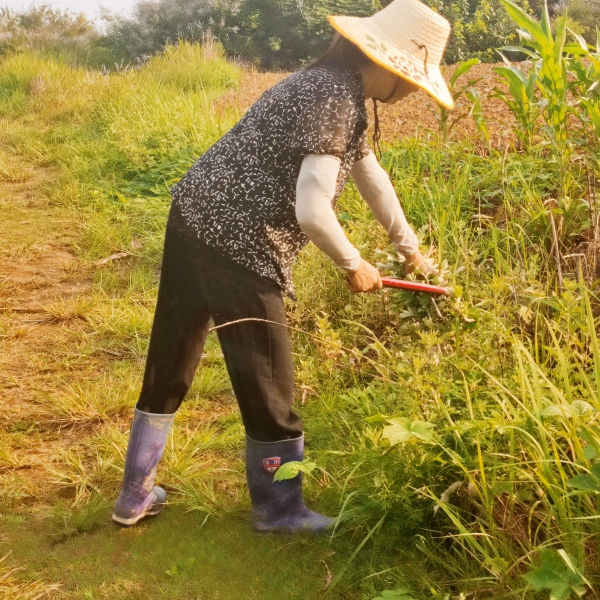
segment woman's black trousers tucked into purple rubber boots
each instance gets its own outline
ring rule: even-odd
[[[262,442],[301,435],[302,421],[291,410],[294,369],[281,288],[171,226],[137,408],[179,408],[211,319],[225,325],[217,334],[248,435]],[[235,323],[241,319],[257,320]]]

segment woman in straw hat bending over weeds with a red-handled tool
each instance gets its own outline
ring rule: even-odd
[[[121,525],[165,503],[156,467],[211,319],[246,430],[254,529],[320,532],[332,523],[304,504],[302,474],[274,482],[281,465],[304,456],[282,292],[294,298],[292,263],[309,240],[345,271],[352,292],[381,288],[379,271],[334,213],[349,176],[408,270],[433,268],[369,148],[365,100],[392,104],[421,88],[447,108],[453,102],[440,72],[450,25],[418,0],[329,20],[337,33],[325,54],[267,90],[171,190],[146,369],[112,515]]]

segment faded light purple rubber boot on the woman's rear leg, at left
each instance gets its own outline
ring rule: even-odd
[[[134,410],[123,488],[112,518],[121,525],[134,525],[146,516],[158,514],[167,499],[165,490],[154,486],[160,460],[175,415],[158,415]]]

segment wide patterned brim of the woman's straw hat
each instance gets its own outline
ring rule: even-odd
[[[414,83],[444,108],[454,108],[454,99],[439,65],[428,65],[426,70],[417,68],[416,59],[387,40],[387,36],[377,30],[376,24],[369,23],[367,33],[364,18],[329,15],[327,19],[338,33],[358,46],[374,63]],[[378,43],[378,40],[385,40],[385,43]]]

